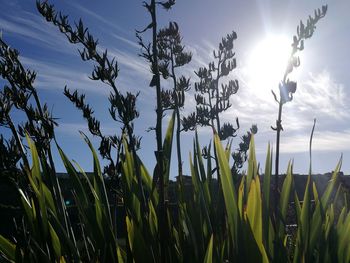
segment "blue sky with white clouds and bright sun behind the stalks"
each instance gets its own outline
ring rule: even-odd
[[[139,154],[149,171],[155,164],[154,132],[146,130],[155,126],[156,93],[148,86],[152,74],[147,63],[138,56],[140,47],[135,29],[149,24],[149,15],[142,1],[121,0],[60,0],[49,1],[56,10],[69,15],[70,22],[82,18],[93,36],[99,39],[100,48],[108,49],[119,63],[117,86],[121,92],[140,92],[137,107],[140,118],[135,123],[135,133],[142,136]],[[221,38],[235,31],[237,68],[230,78],[238,79],[239,91],[232,97],[232,107],[222,116],[225,121],[239,118],[241,128],[233,141],[238,147],[239,137],[252,124],[257,124],[256,151],[261,167],[264,167],[268,143],[275,147],[275,125],[278,105],[271,94],[278,94],[278,83],[283,77],[284,61],[290,53],[292,37],[300,20],[306,21],[315,8],[328,4],[328,12],[317,24],[311,39],[305,41],[300,53],[301,65],[291,75],[298,87],[292,102],[284,105],[281,133],[280,170],[285,171],[289,160],[294,161],[295,173],[307,173],[309,167],[309,138],[313,119],[317,119],[313,138],[313,172],[332,171],[343,154],[342,171],[350,174],[350,1],[292,1],[292,0],[178,0],[170,10],[158,10],[158,25],[164,27],[170,21],[179,25],[183,44],[193,54],[192,61],[181,72],[191,77],[192,89],[186,97],[183,115],[195,107],[194,71],[213,60],[213,50]],[[119,125],[108,114],[108,86],[92,81],[89,75],[93,64],[83,62],[78,46],[72,45],[57,28],[47,23],[36,10],[35,1],[0,0],[0,30],[3,39],[20,51],[25,67],[37,72],[35,87],[42,102],[52,109],[58,118],[56,136],[67,155],[86,170],[92,170],[92,157],[78,130],[87,132],[87,124],[81,113],[63,95],[67,85],[86,94],[87,102],[94,108],[106,134],[120,133]],[[148,32],[149,34],[149,32]],[[168,83],[163,83],[165,87]],[[1,87],[3,88],[3,87]],[[13,118],[20,122],[21,116]],[[168,118],[164,119],[166,126]],[[0,133],[7,132],[0,127]],[[97,141],[89,137],[95,142]],[[192,151],[194,134],[183,133],[183,159],[188,173],[188,156]],[[201,145],[211,139],[210,129],[199,129]],[[174,157],[175,152],[173,152]],[[57,152],[57,169],[64,171]],[[176,174],[173,159],[172,174]]]

